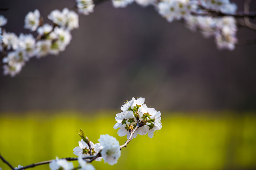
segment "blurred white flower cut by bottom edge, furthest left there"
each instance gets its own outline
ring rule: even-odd
[[[72,170],[74,168],[72,162],[68,162],[65,159],[58,159],[58,157],[56,157],[56,160],[51,161],[49,166],[51,170]]]

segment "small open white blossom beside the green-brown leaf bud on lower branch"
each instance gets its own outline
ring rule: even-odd
[[[73,149],[73,153],[77,156],[82,156],[82,157],[90,156],[90,148],[88,144],[86,144],[82,139],[81,141],[78,142],[78,144],[79,146]],[[92,142],[90,142],[90,144],[91,144],[91,150],[93,155],[96,155],[101,151],[102,149],[101,144],[99,143],[93,144]],[[101,157],[96,158],[95,161],[101,161]]]

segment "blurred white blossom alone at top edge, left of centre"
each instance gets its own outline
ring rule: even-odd
[[[76,0],[78,12],[83,15],[89,15],[94,11],[93,0]]]

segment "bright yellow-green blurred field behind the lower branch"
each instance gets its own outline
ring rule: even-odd
[[[101,134],[119,137],[113,129],[118,111],[13,113],[0,115],[0,153],[13,166],[75,157],[80,137],[76,130],[97,143]],[[163,128],[153,138],[137,136],[116,165],[93,162],[98,170],[226,170],[256,168],[256,116],[244,113],[162,112]],[[74,162],[76,165],[77,163]],[[3,170],[8,167],[0,162]],[[47,170],[48,165],[35,170]]]

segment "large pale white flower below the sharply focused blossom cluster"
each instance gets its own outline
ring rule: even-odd
[[[117,163],[119,157],[121,156],[120,145],[117,139],[107,134],[101,135],[98,141],[100,142],[101,146],[103,146],[101,156],[105,163],[107,162],[110,165]]]

